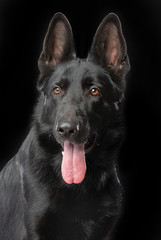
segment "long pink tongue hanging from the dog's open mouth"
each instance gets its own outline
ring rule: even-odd
[[[68,184],[81,183],[86,173],[84,144],[64,142],[62,177]]]

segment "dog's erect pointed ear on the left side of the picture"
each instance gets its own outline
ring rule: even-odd
[[[75,56],[73,33],[67,18],[62,13],[56,13],[48,27],[43,50],[38,65],[40,72],[45,68]]]

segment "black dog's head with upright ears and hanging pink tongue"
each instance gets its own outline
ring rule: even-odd
[[[64,180],[79,183],[86,172],[85,156],[94,153],[101,141],[108,148],[119,135],[114,130],[120,122],[118,103],[124,96],[129,60],[118,17],[112,13],[104,18],[87,59],[78,59],[68,20],[62,13],[55,14],[39,69],[40,131],[64,149]]]

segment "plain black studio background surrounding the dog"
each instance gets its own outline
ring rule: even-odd
[[[161,239],[161,1],[0,0],[0,167],[28,133],[36,104],[37,60],[57,11],[69,19],[79,57],[86,57],[103,17],[120,17],[131,71],[126,139],[120,153],[124,211],[114,239]]]

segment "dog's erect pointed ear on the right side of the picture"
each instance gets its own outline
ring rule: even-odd
[[[126,74],[129,70],[126,42],[116,14],[108,14],[99,25],[89,53],[91,58],[114,74]]]

